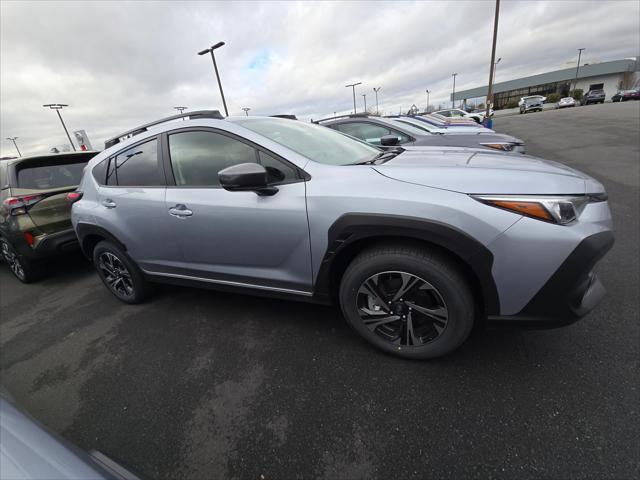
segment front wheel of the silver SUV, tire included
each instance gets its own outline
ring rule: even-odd
[[[447,257],[409,245],[362,252],[345,271],[339,297],[356,333],[387,353],[410,359],[454,351],[474,323],[465,275]]]

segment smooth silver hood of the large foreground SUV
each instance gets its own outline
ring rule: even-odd
[[[474,148],[407,148],[373,167],[401,182],[467,194],[584,194],[604,187],[582,172],[557,162],[519,153]]]

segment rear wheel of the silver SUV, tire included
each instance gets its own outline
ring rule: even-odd
[[[118,246],[103,240],[93,249],[93,265],[102,283],[124,303],[141,303],[151,286],[135,262]]]

